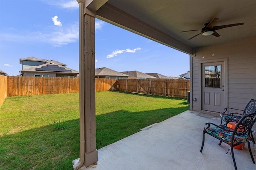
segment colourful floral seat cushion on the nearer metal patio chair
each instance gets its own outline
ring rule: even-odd
[[[231,142],[233,130],[225,125],[220,125],[220,127],[210,127],[206,132],[224,141]],[[233,143],[246,143],[248,141],[252,141],[252,138],[248,135],[235,135]]]

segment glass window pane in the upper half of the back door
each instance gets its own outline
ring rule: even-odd
[[[221,65],[205,66],[205,87],[220,88]]]

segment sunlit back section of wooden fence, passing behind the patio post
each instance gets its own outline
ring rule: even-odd
[[[6,86],[7,96],[78,93],[79,78],[8,76]],[[96,92],[114,90],[117,90],[116,79],[95,78]]]

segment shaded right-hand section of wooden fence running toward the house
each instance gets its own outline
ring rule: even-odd
[[[187,98],[187,92],[190,90],[190,81],[172,79],[119,79],[118,90],[158,96]]]

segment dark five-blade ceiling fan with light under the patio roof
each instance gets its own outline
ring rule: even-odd
[[[189,32],[189,31],[201,31],[201,33],[194,35],[193,37],[191,37],[190,39],[202,34],[202,35],[214,35],[215,37],[220,37],[220,34],[218,34],[216,32],[216,30],[218,29],[222,29],[222,28],[226,28],[226,27],[233,27],[233,26],[237,26],[237,25],[244,25],[243,23],[233,23],[233,24],[228,24],[228,25],[220,25],[220,26],[214,26],[216,24],[216,22],[218,21],[219,18],[214,18],[212,21],[204,23],[204,27],[202,29],[196,29],[196,30],[188,30],[188,31],[181,31],[181,33],[183,32]],[[190,40],[188,39],[188,40]]]

